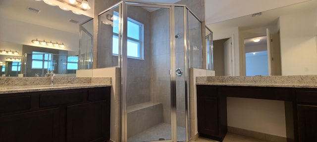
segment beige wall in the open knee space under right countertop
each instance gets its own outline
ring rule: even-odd
[[[286,137],[283,101],[227,97],[228,126]]]

